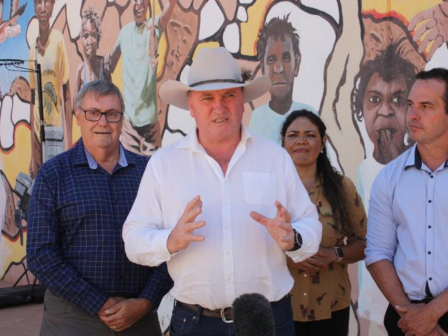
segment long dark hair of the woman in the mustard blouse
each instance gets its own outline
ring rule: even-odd
[[[307,109],[301,109],[294,111],[287,116],[281,127],[281,140],[282,146],[285,147],[285,136],[289,125],[292,124],[297,118],[307,118],[318,128],[320,138],[323,139],[327,127],[320,119],[319,116]],[[327,149],[323,147],[323,152],[319,154],[317,158],[317,176],[322,180],[323,195],[327,198],[329,204],[332,207],[333,219],[336,225],[338,225],[341,232],[345,235],[349,234],[349,218],[347,210],[347,193],[343,188],[343,176],[334,169],[329,162],[327,156]]]

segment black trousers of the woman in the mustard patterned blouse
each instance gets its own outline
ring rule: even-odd
[[[318,321],[298,322],[294,321],[296,336],[347,336],[349,333],[350,307],[332,312],[329,319]]]

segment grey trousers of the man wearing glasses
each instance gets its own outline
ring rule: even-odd
[[[41,336],[161,336],[157,313],[142,317],[130,328],[114,332],[97,316],[91,316],[50,291],[43,300]]]

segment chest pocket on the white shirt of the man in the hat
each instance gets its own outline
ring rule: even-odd
[[[243,173],[243,184],[247,203],[274,205],[276,200],[275,174],[246,171]]]

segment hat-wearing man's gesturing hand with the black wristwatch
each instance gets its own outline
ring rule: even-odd
[[[291,215],[289,215],[287,209],[278,200],[276,200],[275,206],[277,213],[274,218],[267,218],[256,211],[251,211],[250,216],[260,224],[263,224],[278,246],[284,251],[287,251],[294,247],[294,231],[292,231]]]

